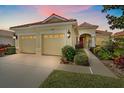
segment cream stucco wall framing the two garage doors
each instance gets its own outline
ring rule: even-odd
[[[68,30],[71,32],[71,37],[67,38],[67,32]],[[50,25],[50,26],[37,26],[37,27],[28,27],[23,29],[15,29],[15,33],[18,36],[18,39],[16,40],[16,48],[19,49],[19,37],[21,35],[36,35],[36,53],[42,52],[42,35],[43,34],[57,34],[57,33],[64,33],[65,35],[65,45],[71,45],[72,37],[74,37],[73,28],[71,24],[63,24],[63,25]]]

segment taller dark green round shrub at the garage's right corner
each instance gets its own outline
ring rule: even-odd
[[[73,61],[75,56],[75,49],[72,46],[66,45],[62,48],[62,55],[67,59],[67,61]]]

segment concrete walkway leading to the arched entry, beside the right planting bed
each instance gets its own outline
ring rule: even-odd
[[[107,67],[104,66],[102,62],[100,62],[100,60],[94,54],[92,54],[88,49],[84,50],[88,55],[89,62],[91,65],[90,70],[92,71],[92,74],[117,78]]]

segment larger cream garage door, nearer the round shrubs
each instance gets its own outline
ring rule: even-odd
[[[46,34],[42,36],[43,54],[61,55],[61,48],[64,46],[64,34]]]

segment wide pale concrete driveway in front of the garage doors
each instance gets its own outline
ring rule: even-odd
[[[0,88],[39,87],[59,63],[57,56],[15,54],[0,57]]]

